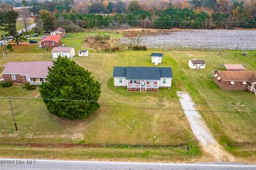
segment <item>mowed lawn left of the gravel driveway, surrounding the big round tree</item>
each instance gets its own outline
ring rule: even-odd
[[[84,120],[69,121],[49,114],[42,100],[12,99],[19,128],[18,133],[13,133],[8,101],[1,99],[0,134],[2,141],[6,143],[22,141],[149,146],[190,144],[196,149],[196,139],[183,112],[166,110],[167,108],[181,108],[178,97],[175,95],[175,88],[162,89],[161,92],[155,93],[137,93],[127,92],[125,88],[113,87],[114,65],[151,66],[149,54],[149,51],[146,53],[91,53],[90,57],[75,58],[76,62],[91,71],[95,79],[100,81],[101,101],[124,101],[137,104],[100,102],[101,107],[95,114]],[[137,56],[143,56],[143,58]],[[23,55],[9,53],[7,57],[8,59],[1,58],[1,63],[51,60],[51,57],[47,57],[45,53]],[[27,91],[22,89],[21,85],[0,89],[0,96],[34,98],[37,94],[38,89]]]

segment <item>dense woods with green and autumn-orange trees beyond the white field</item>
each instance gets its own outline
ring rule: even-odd
[[[55,16],[53,24],[67,32],[82,28],[187,28],[217,29],[256,28],[256,2],[253,0],[54,0],[54,1],[0,1],[2,5],[28,6],[42,25],[40,10]],[[1,7],[2,8],[2,7]],[[2,9],[4,11],[4,8]],[[1,18],[1,16],[0,16]],[[79,27],[78,27],[79,26]]]

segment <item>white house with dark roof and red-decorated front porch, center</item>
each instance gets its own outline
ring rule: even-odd
[[[114,86],[127,91],[159,91],[171,88],[171,67],[114,67]]]

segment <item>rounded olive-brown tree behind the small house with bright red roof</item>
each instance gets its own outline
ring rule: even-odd
[[[56,28],[56,18],[50,11],[41,10],[39,16],[43,21],[43,30],[48,32]]]

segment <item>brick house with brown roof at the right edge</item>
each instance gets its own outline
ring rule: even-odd
[[[214,71],[213,80],[222,90],[248,90],[256,95],[256,71]]]

